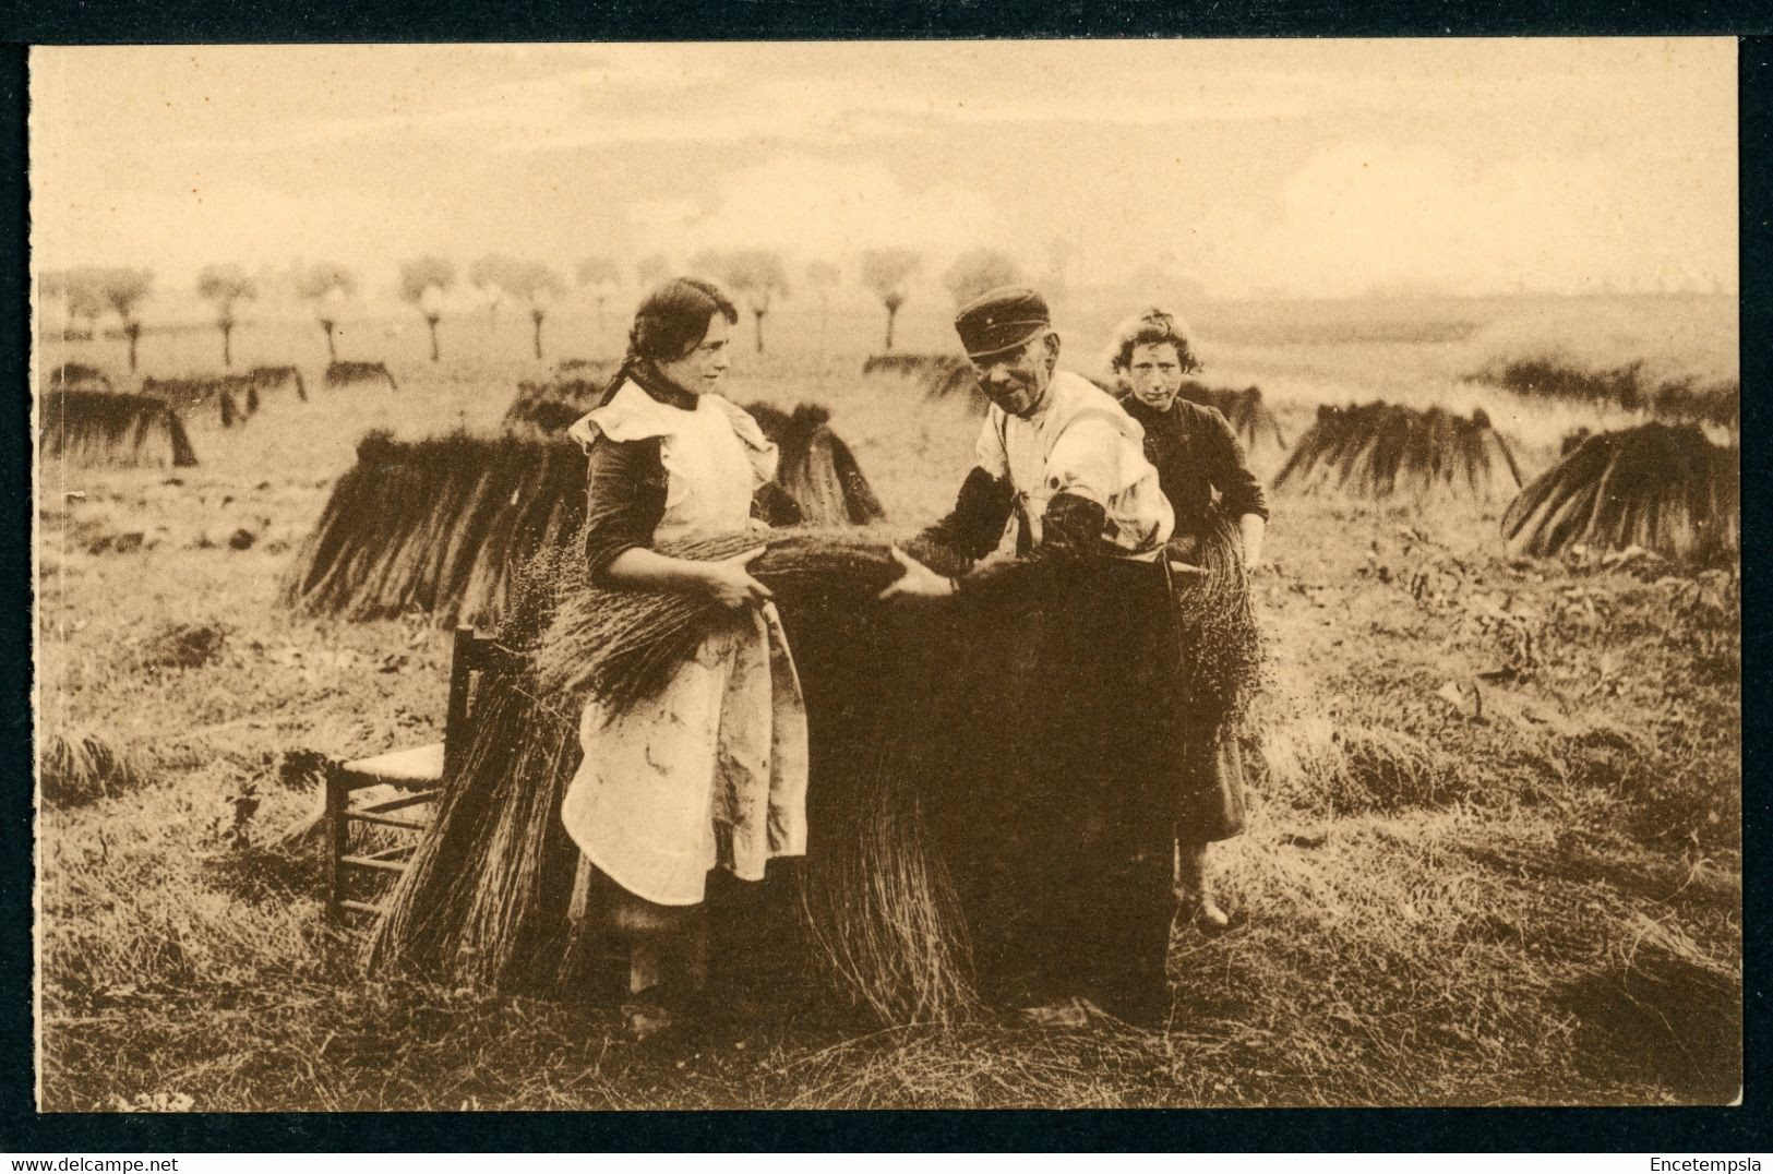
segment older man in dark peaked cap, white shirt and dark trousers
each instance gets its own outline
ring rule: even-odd
[[[1000,729],[980,738],[1011,747],[1012,763],[982,794],[940,796],[965,812],[949,826],[965,858],[956,871],[973,885],[982,977],[1044,1014],[1096,1004],[1152,1021],[1168,1007],[1174,915],[1175,638],[1160,562],[1170,502],[1140,426],[1112,395],[1058,371],[1041,294],[993,289],[954,328],[991,406],[954,511],[913,550],[965,571],[1014,530],[1016,553],[1055,571],[1030,633],[1041,688],[1019,711],[993,715]],[[966,589],[965,575],[901,562],[888,598]]]

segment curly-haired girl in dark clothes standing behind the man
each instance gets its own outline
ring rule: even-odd
[[[1145,459],[1158,466],[1175,511],[1172,552],[1186,560],[1206,523],[1220,514],[1236,523],[1243,562],[1255,567],[1268,498],[1225,417],[1179,395],[1183,376],[1199,369],[1186,326],[1154,307],[1122,325],[1113,346],[1110,364],[1128,383],[1121,406],[1145,429]],[[1177,812],[1184,912],[1204,929],[1222,929],[1227,917],[1206,887],[1207,844],[1243,832],[1243,761],[1236,738],[1222,729],[1195,725],[1186,741],[1190,770]]]

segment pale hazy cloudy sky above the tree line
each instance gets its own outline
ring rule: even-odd
[[[1215,296],[1736,287],[1736,44],[92,46],[30,59],[35,264],[1002,248]]]

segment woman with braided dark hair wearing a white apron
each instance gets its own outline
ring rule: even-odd
[[[658,544],[761,528],[754,491],[777,449],[718,394],[738,310],[707,282],[677,278],[635,314],[628,358],[603,404],[569,434],[590,463],[587,557],[612,587],[688,591],[734,610],[668,685],[629,713],[583,711],[585,757],[560,818],[583,853],[573,913],[608,892],[629,949],[629,1030],[672,1021],[707,967],[707,873],[761,881],[773,857],[807,851],[807,713],[759,550],[691,562]],[[603,881],[612,883],[603,883]]]

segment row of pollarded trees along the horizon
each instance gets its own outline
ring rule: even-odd
[[[690,261],[690,268],[725,286],[745,303],[761,353],[764,349],[764,319],[777,300],[789,296],[787,268],[780,254],[766,248],[704,250]],[[908,248],[874,248],[860,255],[858,280],[886,309],[888,351],[894,346],[899,309],[906,303],[910,282],[920,268],[922,257]],[[658,254],[642,259],[635,268],[642,287],[651,287],[668,273],[668,262]],[[610,257],[594,255],[578,262],[576,277],[580,287],[596,300],[601,326],[605,305],[621,287],[621,268]],[[466,278],[486,301],[491,317],[496,319],[498,307],[507,301],[521,303],[528,310],[535,330],[535,356],[541,358],[543,323],[553,300],[566,289],[560,277],[548,264],[537,261],[488,254],[468,266]],[[807,284],[819,294],[821,333],[830,312],[832,289],[840,278],[842,271],[830,261],[814,261],[807,266]],[[1019,280],[1023,280],[1023,270],[1016,259],[993,248],[975,248],[963,254],[943,275],[943,284],[954,294],[956,303],[993,286]],[[431,332],[433,362],[440,358],[438,323],[443,317],[445,296],[456,284],[457,270],[447,257],[415,257],[406,261],[399,271],[401,298],[424,316]],[[43,293],[62,298],[73,319],[87,321],[89,333],[98,333],[98,321],[106,312],[113,312],[122,321],[122,333],[129,342],[131,372],[137,369],[137,344],[142,337],[138,310],[142,301],[152,294],[152,287],[154,275],[149,270],[83,266],[50,270],[43,275]],[[316,321],[326,332],[326,355],[337,362],[335,332],[346,300],[360,287],[356,273],[340,264],[317,262],[293,273],[291,287],[314,307]],[[261,296],[261,280],[238,264],[215,264],[199,273],[197,293],[215,305],[216,330],[222,332],[222,365],[230,367],[239,307]]]

